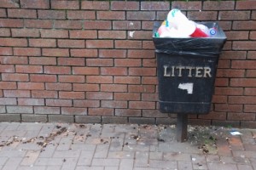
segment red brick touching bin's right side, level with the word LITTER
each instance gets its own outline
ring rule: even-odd
[[[244,77],[245,70],[218,69],[217,77]]]

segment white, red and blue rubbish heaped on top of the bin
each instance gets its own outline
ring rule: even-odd
[[[216,23],[211,27],[196,23],[174,8],[167,14],[154,37],[213,37],[217,31]]]

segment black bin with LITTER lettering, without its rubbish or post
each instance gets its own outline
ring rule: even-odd
[[[160,22],[154,23],[157,32]],[[204,38],[154,37],[159,81],[159,104],[163,113],[207,114],[218,66],[218,57],[226,41],[224,31],[215,22],[216,35]]]

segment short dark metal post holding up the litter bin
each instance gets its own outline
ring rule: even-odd
[[[177,114],[177,142],[184,142],[187,140],[188,132],[188,115]]]

